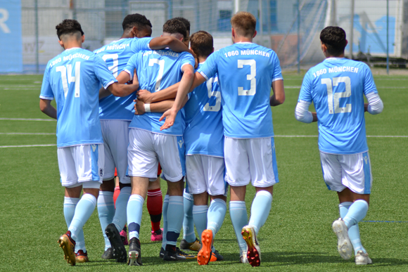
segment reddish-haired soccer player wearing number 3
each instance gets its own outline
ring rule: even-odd
[[[238,12],[231,18],[231,25],[234,44],[207,58],[195,73],[191,89],[218,74],[231,221],[241,250],[241,262],[259,266],[257,234],[269,215],[273,186],[279,182],[269,105],[283,103],[285,91],[276,53],[252,42],[256,35],[255,17],[248,12]],[[271,86],[274,94],[269,98]],[[188,91],[177,91],[173,107],[160,118],[166,118],[160,129],[174,124]],[[245,195],[250,181],[257,193],[248,223]]]

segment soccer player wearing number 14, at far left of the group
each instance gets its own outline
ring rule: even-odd
[[[46,66],[39,107],[57,119],[58,166],[65,187],[64,216],[68,226],[58,243],[68,263],[75,265],[77,260],[88,261],[82,226],[94,212],[103,176],[99,86],[115,93],[131,93],[139,84],[117,84],[102,58],[82,49],[85,36],[76,20],[63,20],[56,30],[65,51]],[[57,109],[51,105],[53,98]],[[79,199],[82,188],[84,194]],[[82,242],[77,249],[76,240]]]

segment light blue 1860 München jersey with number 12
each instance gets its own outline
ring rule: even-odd
[[[364,95],[377,93],[365,63],[346,58],[326,58],[303,79],[299,101],[313,102],[319,124],[319,150],[356,154],[368,150]]]

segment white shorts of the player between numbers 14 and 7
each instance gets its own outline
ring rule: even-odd
[[[115,177],[115,168],[120,183],[130,183],[127,170],[127,145],[129,145],[129,121],[101,120],[103,146],[105,148],[105,173],[103,180]]]

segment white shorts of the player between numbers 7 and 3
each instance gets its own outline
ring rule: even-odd
[[[193,195],[208,192],[209,195],[225,195],[225,164],[223,157],[206,155],[186,156],[186,180]]]

